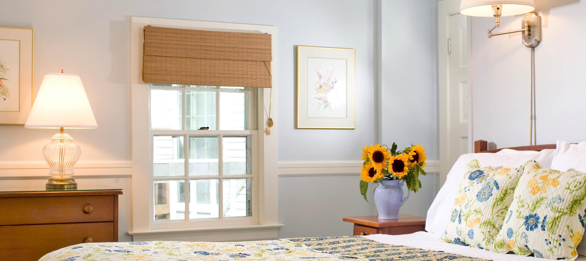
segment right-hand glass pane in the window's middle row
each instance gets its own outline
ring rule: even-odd
[[[251,169],[251,138],[222,138],[223,174],[252,174]]]

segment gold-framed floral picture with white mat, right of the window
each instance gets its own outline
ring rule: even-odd
[[[297,46],[297,128],[356,128],[356,50]]]

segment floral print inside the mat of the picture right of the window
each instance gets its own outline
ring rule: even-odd
[[[346,60],[307,59],[307,116],[346,118]]]

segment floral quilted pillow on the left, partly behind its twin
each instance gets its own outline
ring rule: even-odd
[[[517,168],[495,169],[481,167],[477,160],[470,161],[442,239],[488,249],[505,222],[513,192],[529,162]]]

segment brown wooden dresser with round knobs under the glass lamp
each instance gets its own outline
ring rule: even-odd
[[[0,260],[36,261],[88,242],[118,241],[121,189],[0,191]]]

